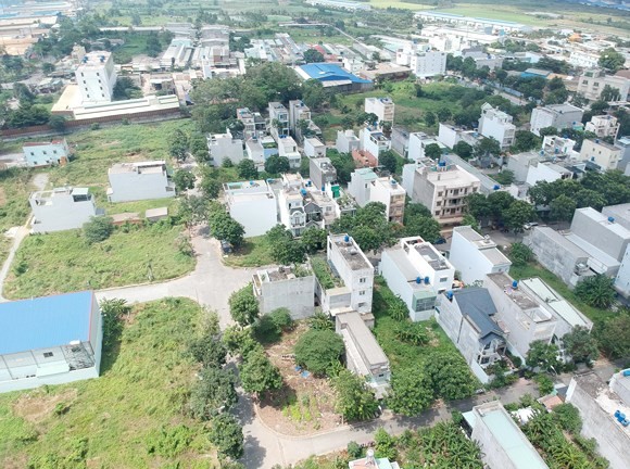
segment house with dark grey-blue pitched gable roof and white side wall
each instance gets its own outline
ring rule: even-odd
[[[507,333],[494,319],[496,306],[484,288],[445,292],[436,307],[436,319],[483,383],[486,368],[505,357]]]

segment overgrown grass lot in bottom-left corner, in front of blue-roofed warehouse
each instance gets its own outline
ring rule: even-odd
[[[0,467],[45,467],[42,458],[67,461],[46,467],[212,466],[204,426],[184,414],[196,379],[186,344],[200,312],[182,299],[137,305],[119,345],[104,351],[100,378],[0,394]],[[24,401],[28,406],[20,405]],[[34,407],[46,403],[48,411],[33,419]],[[59,403],[63,411],[55,411]],[[158,435],[168,433],[163,429],[181,424],[193,435],[187,447],[171,457],[149,453]],[[77,466],[70,458],[81,439],[87,453]]]

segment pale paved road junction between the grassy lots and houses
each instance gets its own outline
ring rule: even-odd
[[[222,327],[230,325],[232,320],[229,316],[228,297],[231,292],[251,280],[254,270],[226,267],[220,261],[217,241],[207,237],[206,229],[200,229],[196,233],[192,245],[198,257],[191,274],[161,283],[101,290],[97,292],[97,297],[124,299],[133,304],[165,296],[186,296],[216,310]]]

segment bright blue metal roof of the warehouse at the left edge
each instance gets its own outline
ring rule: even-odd
[[[0,304],[0,355],[90,339],[91,291]]]

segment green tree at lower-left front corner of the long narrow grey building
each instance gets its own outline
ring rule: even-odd
[[[335,409],[345,420],[368,420],[376,415],[378,402],[365,383],[365,380],[353,372],[341,369],[332,378],[332,386],[337,393]]]

